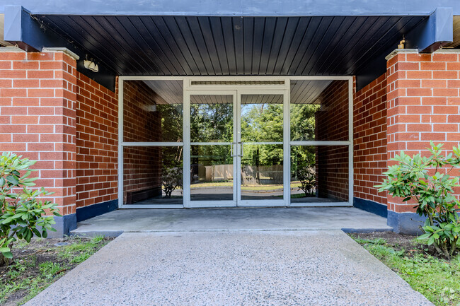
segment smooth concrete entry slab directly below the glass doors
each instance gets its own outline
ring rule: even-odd
[[[353,207],[120,209],[78,223],[76,235],[195,230],[392,230]]]

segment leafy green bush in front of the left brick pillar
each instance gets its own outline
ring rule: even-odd
[[[14,153],[0,156],[0,265],[11,259],[11,246],[16,240],[30,242],[33,235],[47,237],[47,230],[52,228],[53,216],[45,216],[50,211],[54,216],[61,216],[57,204],[39,201],[39,196],[49,196],[44,188],[29,189],[35,186],[36,178],[29,178],[30,167],[35,161],[21,159]]]

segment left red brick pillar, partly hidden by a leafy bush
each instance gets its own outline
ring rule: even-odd
[[[38,187],[54,192],[63,217],[57,235],[76,228],[76,59],[71,52],[0,48],[0,151],[38,160]]]

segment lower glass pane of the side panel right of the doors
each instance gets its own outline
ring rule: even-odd
[[[348,146],[291,146],[291,203],[348,201]]]

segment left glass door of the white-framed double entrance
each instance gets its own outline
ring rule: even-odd
[[[190,176],[185,206],[236,206],[236,91],[200,90],[188,93],[187,101]]]

